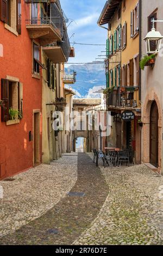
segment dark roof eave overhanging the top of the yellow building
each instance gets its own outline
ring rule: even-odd
[[[97,21],[97,24],[102,26],[106,23],[109,23],[112,16],[115,13],[115,10],[118,8],[122,0],[108,0],[105,3],[105,6],[102,10],[102,13]]]

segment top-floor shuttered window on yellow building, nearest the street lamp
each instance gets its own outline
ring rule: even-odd
[[[136,4],[134,10],[131,10],[131,38],[139,31],[139,3]]]

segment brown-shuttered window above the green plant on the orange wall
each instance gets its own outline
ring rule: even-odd
[[[20,111],[22,115],[23,103],[23,89],[22,83],[9,81],[7,79],[1,80],[1,97],[5,106],[1,111],[2,122],[11,119],[9,116],[9,109]]]

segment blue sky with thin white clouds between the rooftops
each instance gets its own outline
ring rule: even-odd
[[[70,42],[79,42],[86,44],[106,44],[106,29],[97,25],[97,20],[101,14],[106,0],[60,0],[61,7],[69,19],[68,26]],[[105,46],[82,46],[74,45],[76,57],[69,58],[68,62],[92,62],[100,54],[105,54]],[[97,59],[99,60],[99,59]]]

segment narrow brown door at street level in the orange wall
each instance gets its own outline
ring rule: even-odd
[[[40,164],[40,112],[34,113],[34,140],[33,140],[33,159],[34,166]]]

